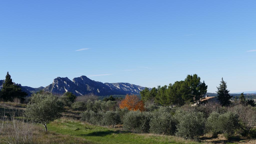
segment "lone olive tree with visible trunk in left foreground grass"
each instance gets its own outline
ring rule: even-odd
[[[44,125],[45,131],[47,131],[47,124],[60,118],[63,110],[63,104],[56,96],[46,95],[41,101],[29,103],[25,110],[25,116]]]

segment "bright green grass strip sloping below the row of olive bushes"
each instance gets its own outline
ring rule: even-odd
[[[119,129],[93,126],[77,120],[60,119],[48,125],[49,131],[82,137],[90,142],[111,144],[147,144],[147,143],[172,143],[172,144],[199,144],[199,142],[188,141],[174,136],[161,136],[152,134],[138,134]]]

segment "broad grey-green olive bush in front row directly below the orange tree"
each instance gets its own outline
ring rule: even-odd
[[[123,128],[129,131],[147,133],[150,128],[150,118],[149,112],[129,111],[124,116]]]

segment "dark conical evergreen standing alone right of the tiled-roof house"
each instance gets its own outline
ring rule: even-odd
[[[223,78],[221,78],[220,81],[220,86],[217,87],[218,91],[217,94],[217,98],[220,101],[220,104],[222,106],[228,106],[230,105],[230,99],[232,98],[232,96],[229,95],[229,90],[227,89],[227,83],[223,80]]]

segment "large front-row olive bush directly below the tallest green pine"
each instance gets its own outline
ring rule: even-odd
[[[204,133],[205,118],[202,112],[184,112],[179,116],[177,136],[185,139],[198,139]]]

